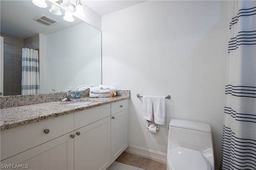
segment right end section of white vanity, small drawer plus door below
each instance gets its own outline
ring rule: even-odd
[[[128,104],[123,100],[111,104],[111,163],[128,147]]]

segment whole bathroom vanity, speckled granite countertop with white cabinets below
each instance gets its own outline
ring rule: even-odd
[[[129,98],[85,97],[70,103],[90,103],[1,109],[1,168],[108,168],[128,147]]]

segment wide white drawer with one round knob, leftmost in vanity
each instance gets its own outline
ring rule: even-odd
[[[49,129],[46,134],[44,130]],[[1,160],[62,136],[74,129],[74,114],[1,131]]]

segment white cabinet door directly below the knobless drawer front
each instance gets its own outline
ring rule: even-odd
[[[74,133],[76,170],[100,170],[110,166],[110,116],[79,128]]]

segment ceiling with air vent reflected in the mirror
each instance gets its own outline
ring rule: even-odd
[[[49,12],[51,2],[46,1],[48,8],[39,8],[32,3],[32,0],[0,0],[0,26],[1,33],[28,38],[38,33],[48,35],[59,30],[82,23],[82,20],[65,22],[62,16],[56,16]],[[64,11],[62,10],[64,14]],[[44,14],[56,21],[54,26],[45,26],[33,20],[34,17]]]

